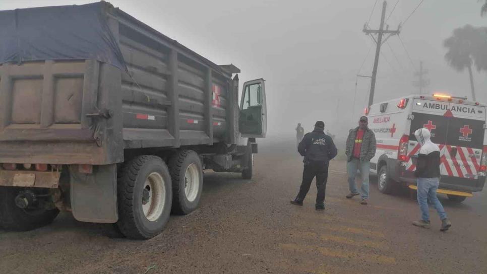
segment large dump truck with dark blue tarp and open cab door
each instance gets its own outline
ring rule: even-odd
[[[0,226],[59,211],[159,234],[203,170],[251,179],[264,79],[217,65],[107,2],[0,11]]]

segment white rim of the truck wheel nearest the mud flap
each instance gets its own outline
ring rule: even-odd
[[[166,200],[164,179],[159,173],[152,172],[145,180],[144,189],[149,192],[149,197],[147,200],[142,199],[142,210],[145,218],[150,222],[154,222],[161,217],[164,210]],[[141,195],[143,194],[144,191]]]

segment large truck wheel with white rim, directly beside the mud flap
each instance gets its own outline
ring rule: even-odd
[[[171,176],[156,156],[143,155],[120,168],[117,228],[131,239],[150,239],[167,224],[171,212]]]

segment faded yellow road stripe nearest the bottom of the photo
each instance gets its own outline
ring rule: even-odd
[[[351,251],[344,251],[344,250],[335,250],[335,249],[331,250],[320,246],[297,245],[293,243],[288,243],[288,244],[279,244],[279,247],[285,250],[306,252],[306,253],[318,251],[323,256],[327,256],[327,257],[360,258],[360,259],[364,259],[376,263],[389,263],[389,264],[396,263],[396,259],[394,257],[375,255],[369,253],[358,253],[358,252],[351,252]]]

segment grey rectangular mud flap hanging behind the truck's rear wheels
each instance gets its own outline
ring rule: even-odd
[[[93,166],[92,174],[70,166],[71,208],[76,220],[90,223],[118,221],[116,164]]]

